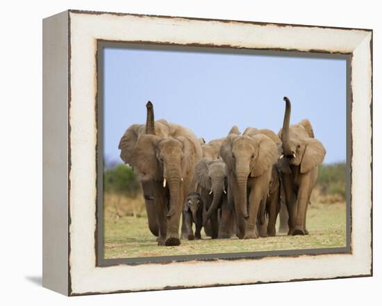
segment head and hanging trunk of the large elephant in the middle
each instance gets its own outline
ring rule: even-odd
[[[220,149],[222,159],[235,179],[240,202],[235,202],[237,213],[245,219],[247,211],[247,181],[249,177],[263,175],[277,161],[278,151],[274,141],[264,134],[238,136],[230,134]]]

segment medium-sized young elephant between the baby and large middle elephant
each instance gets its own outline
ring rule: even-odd
[[[230,238],[232,235],[233,207],[227,201],[227,169],[222,159],[201,159],[196,167],[199,193],[206,208],[204,225],[210,221],[211,236]]]

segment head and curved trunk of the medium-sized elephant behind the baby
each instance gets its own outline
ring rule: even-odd
[[[201,159],[196,167],[196,177],[199,185],[210,194],[213,194],[213,202],[204,220],[205,225],[213,212],[219,207],[223,194],[226,194],[228,184],[226,164],[222,159],[216,159],[215,161]]]

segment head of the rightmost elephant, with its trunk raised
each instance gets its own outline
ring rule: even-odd
[[[288,173],[288,165],[300,166],[300,172],[306,173],[324,161],[326,150],[324,145],[314,138],[309,120],[304,119],[290,127],[290,100],[284,97],[284,101],[283,128],[279,132],[282,140],[281,168],[283,172]]]

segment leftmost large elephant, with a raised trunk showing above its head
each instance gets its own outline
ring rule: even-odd
[[[158,245],[179,245],[179,219],[188,192],[196,188],[194,168],[201,146],[189,129],[166,120],[154,122],[153,104],[146,107],[146,124],[126,130],[120,156],[142,182],[149,228],[158,235]]]

